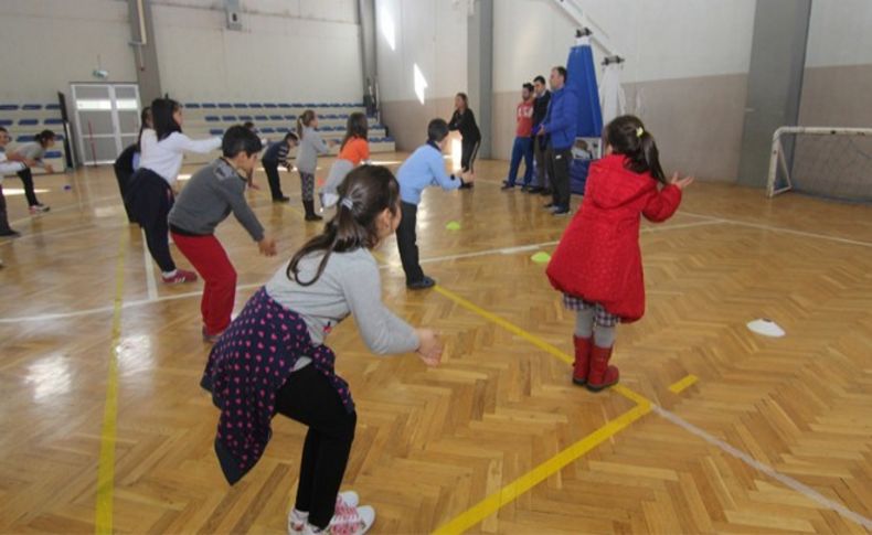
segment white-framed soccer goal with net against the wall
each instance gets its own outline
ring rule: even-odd
[[[787,191],[872,203],[872,128],[781,127],[766,194]]]

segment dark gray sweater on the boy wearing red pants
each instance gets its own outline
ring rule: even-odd
[[[182,234],[208,236],[233,212],[255,242],[264,239],[264,227],[245,201],[245,182],[219,158],[191,176],[170,210],[170,225]]]

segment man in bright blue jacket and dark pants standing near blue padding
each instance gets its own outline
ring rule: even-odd
[[[552,202],[547,203],[545,207],[551,208],[554,215],[568,215],[570,162],[572,161],[572,146],[575,143],[578,97],[565,87],[566,69],[564,67],[552,68],[549,83],[551,84],[551,101],[545,119],[536,132],[536,136],[550,136],[547,160],[554,193]]]

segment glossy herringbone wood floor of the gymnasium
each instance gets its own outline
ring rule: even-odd
[[[370,355],[351,321],[331,336],[360,422],[344,486],[376,507],[373,533],[444,526],[636,406],[572,386],[555,356],[571,352],[573,318],[530,256],[551,252],[568,220],[547,215],[542,197],[500,192],[504,163],[479,167],[491,181],[429,191],[419,213],[425,270],[447,292],[407,292],[393,240],[379,250],[385,300],[443,332],[444,364]],[[318,231],[297,210],[296,176],[284,182],[290,207],[263,191],[249,197],[278,237],[277,258],[258,256],[232,218],[220,227],[240,274],[237,309]],[[39,178],[53,206],[39,218],[10,194],[15,179],[3,185],[24,236],[0,243],[0,532],[95,528],[119,255],[113,528],[283,532],[304,428],[276,419],[264,460],[227,488],[211,447],[217,415],[198,387],[201,286],[150,292],[142,238],[110,171]],[[649,307],[619,329],[624,386],[860,521],[872,516],[872,208],[695,184],[676,217],[644,226],[641,244]],[[787,336],[745,329],[762,317]],[[668,389],[688,374],[693,386]],[[489,512],[471,532],[864,532],[656,413]]]

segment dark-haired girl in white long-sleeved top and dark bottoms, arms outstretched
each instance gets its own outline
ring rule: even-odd
[[[177,269],[170,255],[167,215],[176,200],[173,188],[184,152],[211,152],[221,147],[221,138],[193,140],[182,133],[182,108],[170,98],[156,98],[151,115],[155,129],[142,131],[139,169],[130,179],[127,201],[146,233],[148,250],[160,266],[163,282],[192,282],[196,274]]]

